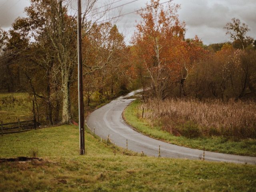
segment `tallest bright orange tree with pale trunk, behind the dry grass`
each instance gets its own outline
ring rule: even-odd
[[[137,58],[147,78],[150,79],[152,94],[159,99],[167,96],[170,80],[180,72],[178,46],[182,47],[184,23],[178,19],[179,5],[169,2],[166,7],[159,0],[151,0],[140,12],[142,20],[132,38]]]

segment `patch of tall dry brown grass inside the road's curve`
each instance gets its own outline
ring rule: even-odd
[[[208,99],[148,99],[144,117],[175,135],[256,138],[256,103]]]

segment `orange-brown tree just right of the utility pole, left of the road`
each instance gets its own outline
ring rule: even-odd
[[[84,87],[87,90],[87,99],[90,100],[93,91],[99,93],[101,101],[104,100],[104,94],[109,99],[114,95],[115,87],[121,87],[120,82],[126,78],[124,66],[128,62],[124,36],[116,25],[106,22],[93,24],[83,42]],[[93,83],[91,77],[95,78]]]

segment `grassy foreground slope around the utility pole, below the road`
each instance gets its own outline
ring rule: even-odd
[[[0,163],[0,191],[253,191],[256,166],[128,156],[78,127],[59,126],[0,136],[0,157],[42,161]],[[36,153],[35,153],[36,152]],[[232,178],[232,179],[230,179]]]

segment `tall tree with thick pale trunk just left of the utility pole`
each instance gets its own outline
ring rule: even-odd
[[[62,123],[69,123],[71,118],[70,86],[75,80],[73,76],[77,57],[76,16],[68,14],[70,2],[69,0],[33,0],[31,6],[26,8],[34,38],[39,41],[47,39],[50,45],[41,45],[44,50],[47,50],[45,52],[47,60],[50,59],[50,62],[44,61],[44,67],[47,66],[49,69],[46,76],[55,75],[61,79]],[[87,2],[83,15],[84,23],[88,22],[86,15],[92,10],[94,3],[95,0]],[[83,26],[85,26],[84,23]],[[40,63],[42,61],[41,59]],[[54,72],[51,71],[52,69]]]

